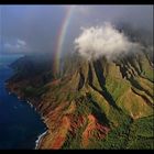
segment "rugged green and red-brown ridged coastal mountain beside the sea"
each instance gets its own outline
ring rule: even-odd
[[[8,87],[44,117],[40,148],[154,148],[152,59],[148,51],[113,62],[72,55],[56,77],[51,59],[26,57]]]

